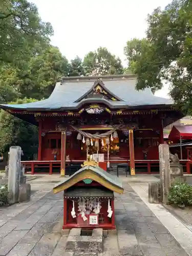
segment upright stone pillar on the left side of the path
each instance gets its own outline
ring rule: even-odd
[[[10,203],[16,203],[19,199],[20,184],[20,158],[22,148],[20,146],[11,146],[9,151],[9,176],[8,191],[10,195]]]

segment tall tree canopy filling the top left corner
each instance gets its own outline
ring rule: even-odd
[[[0,4],[0,64],[27,59],[49,44],[50,23],[42,22],[37,7],[27,0],[2,0]]]

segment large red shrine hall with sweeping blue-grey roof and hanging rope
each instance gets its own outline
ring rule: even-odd
[[[103,154],[105,169],[129,163],[131,173],[158,172],[163,127],[183,117],[168,99],[135,90],[131,75],[63,77],[48,99],[1,108],[39,127],[34,173],[65,175],[68,165]],[[25,152],[24,152],[25,154]]]

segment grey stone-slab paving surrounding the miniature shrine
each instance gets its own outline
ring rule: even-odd
[[[62,193],[53,195],[53,185],[32,184],[35,193],[30,202],[0,210],[0,256],[79,255],[64,251],[67,236],[61,237]],[[111,233],[105,239],[99,256],[188,255],[138,196],[134,185],[123,185],[124,194],[115,195],[117,237]]]

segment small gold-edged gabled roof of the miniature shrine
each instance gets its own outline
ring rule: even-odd
[[[64,181],[57,183],[54,186],[53,191],[54,193],[58,193],[59,191],[66,190],[77,182],[88,178],[97,181],[112,191],[115,191],[119,194],[123,193],[122,183],[118,177],[107,173],[99,166],[93,166],[89,164],[80,168],[77,172],[66,178]]]

